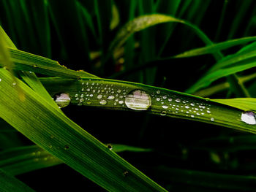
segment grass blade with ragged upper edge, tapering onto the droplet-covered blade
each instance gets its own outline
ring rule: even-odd
[[[13,69],[20,71],[29,71],[49,76],[59,76],[66,78],[96,77],[83,71],[73,71],[61,66],[57,61],[44,58],[39,55],[26,53],[21,50],[9,48],[11,60],[14,63]]]

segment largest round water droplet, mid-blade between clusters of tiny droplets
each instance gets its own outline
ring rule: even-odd
[[[151,106],[151,97],[142,90],[134,90],[128,93],[124,103],[132,110],[148,110]]]

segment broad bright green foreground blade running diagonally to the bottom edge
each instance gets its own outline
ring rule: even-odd
[[[17,80],[20,101],[10,72],[0,77],[0,117],[44,150],[108,191],[165,191]]]

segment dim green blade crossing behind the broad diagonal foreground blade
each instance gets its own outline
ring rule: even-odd
[[[129,152],[148,152],[151,149],[132,147],[128,145],[108,144],[116,153]],[[0,152],[0,169],[12,175],[23,174],[37,169],[63,164],[59,158],[51,155],[37,145],[26,147],[15,147]]]

